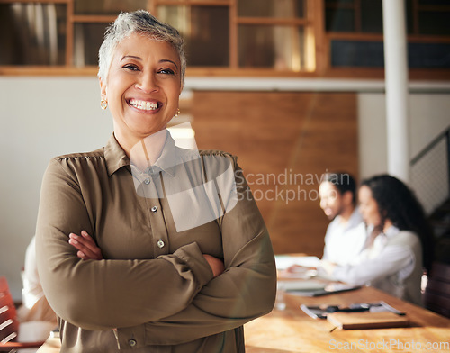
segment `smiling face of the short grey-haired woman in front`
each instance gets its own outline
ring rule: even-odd
[[[166,41],[131,34],[114,50],[102,98],[114,120],[114,135],[126,152],[166,128],[178,109],[180,59]]]

